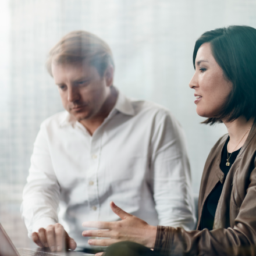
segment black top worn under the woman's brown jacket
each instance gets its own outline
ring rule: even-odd
[[[204,208],[202,209],[202,218],[200,223],[200,230],[202,229],[209,229],[212,230],[214,226],[214,216],[217,209],[219,198],[221,197],[223,185],[229,172],[230,167],[233,165],[234,161],[236,160],[237,155],[239,154],[241,148],[237,151],[232,152],[231,157],[229,158],[230,165],[226,166],[227,162],[227,143],[229,142],[229,138],[227,138],[226,143],[222,149],[221,154],[221,163],[219,168],[221,168],[222,172],[224,173],[224,181],[223,184],[218,182],[215,188],[211,191],[208,195],[207,199],[205,200]],[[230,154],[229,154],[230,156]]]

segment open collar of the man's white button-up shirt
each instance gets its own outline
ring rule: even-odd
[[[134,108],[131,104],[131,100],[127,98],[124,94],[120,93],[120,91],[116,88],[118,91],[118,99],[116,99],[116,104],[113,107],[111,113],[109,113],[109,116],[115,111],[115,109],[125,115],[134,116]],[[66,125],[72,125],[76,123],[76,118],[74,116],[70,115],[69,112],[65,111],[64,115],[61,119],[60,126],[66,126]]]

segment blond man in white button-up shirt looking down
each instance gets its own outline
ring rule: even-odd
[[[45,120],[35,140],[22,204],[33,241],[90,248],[81,224],[117,221],[110,201],[151,225],[193,229],[183,131],[169,111],[121,94],[111,49],[88,32],[63,37],[47,69],[66,111]]]

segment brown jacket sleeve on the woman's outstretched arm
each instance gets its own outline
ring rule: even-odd
[[[256,255],[256,168],[233,228],[195,230],[158,226],[155,250],[163,255]]]

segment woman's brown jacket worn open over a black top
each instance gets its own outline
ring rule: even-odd
[[[256,255],[256,125],[254,123],[229,173],[219,168],[228,135],[212,148],[202,173],[197,230],[158,226],[155,250],[163,255]],[[198,230],[205,199],[224,183],[214,228]]]

